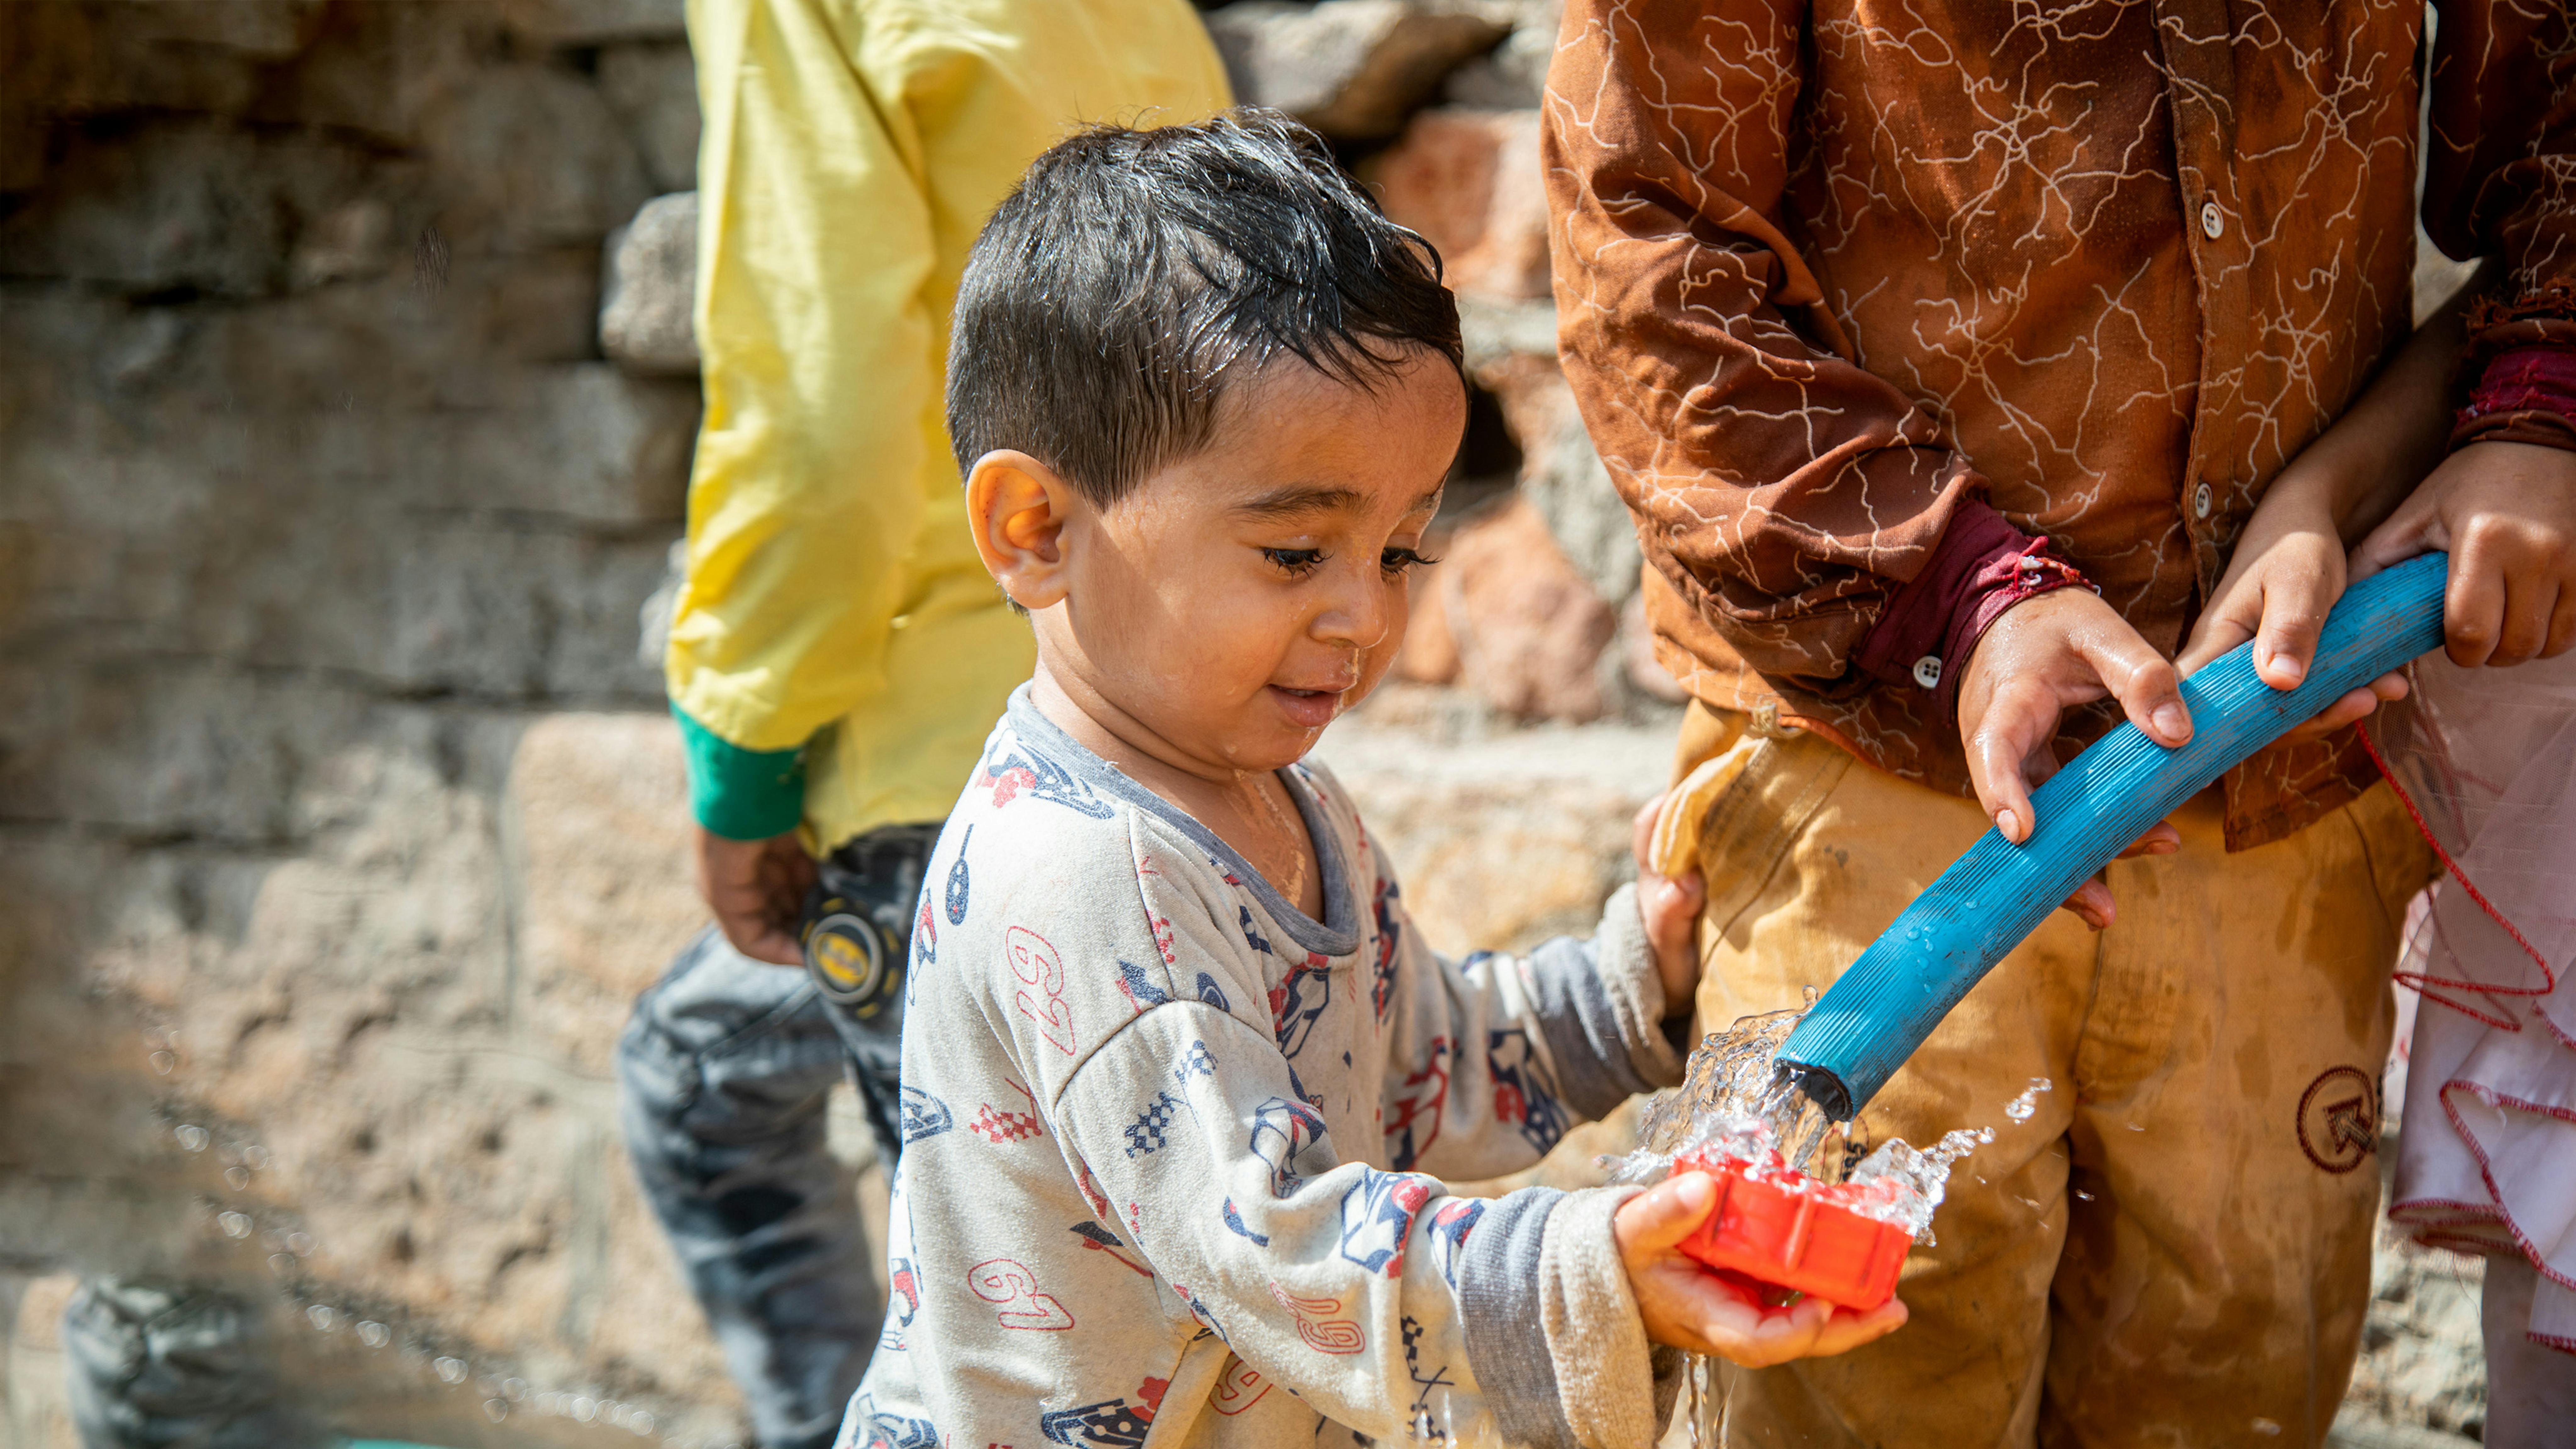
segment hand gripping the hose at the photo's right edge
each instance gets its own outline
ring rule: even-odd
[[[2352,549],[2354,583],[2450,549],[2442,632],[2463,668],[2519,665],[2576,645],[2576,454],[2470,443]]]

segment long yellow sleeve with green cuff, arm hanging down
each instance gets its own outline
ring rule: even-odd
[[[884,670],[943,446],[930,206],[817,0],[688,10],[706,418],[665,673],[698,820],[765,838],[801,817],[796,750]]]

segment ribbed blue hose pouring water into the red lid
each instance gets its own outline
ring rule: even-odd
[[[1780,1047],[1780,1070],[1850,1122],[1994,962],[2148,825],[2344,691],[2439,650],[2447,562],[2424,554],[2344,593],[2298,688],[2267,686],[2251,642],[2202,665],[2182,681],[2192,740],[2179,750],[2136,724],[2094,740],[2030,794],[2030,841],[1986,830],[1842,972]]]

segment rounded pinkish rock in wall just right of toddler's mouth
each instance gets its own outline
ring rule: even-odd
[[[1556,549],[1528,500],[1466,523],[1440,567],[1458,678],[1515,719],[1600,719],[1618,616]]]

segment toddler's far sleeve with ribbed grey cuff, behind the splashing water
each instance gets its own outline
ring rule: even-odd
[[[1517,1173],[1577,1122],[1682,1083],[1664,1029],[1664,982],[1636,887],[1602,908],[1589,941],[1558,936],[1528,957],[1448,962],[1422,944],[1396,884],[1378,882],[1381,959],[1391,949],[1386,1160],[1443,1178]]]

